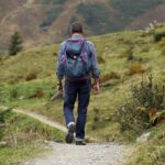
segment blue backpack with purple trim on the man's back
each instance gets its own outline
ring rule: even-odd
[[[91,70],[91,53],[87,41],[67,40],[62,56],[64,75],[67,78],[82,78]]]

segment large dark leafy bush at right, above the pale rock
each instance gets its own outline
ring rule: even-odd
[[[119,108],[119,122],[122,131],[132,129],[141,133],[156,124],[156,118],[164,118],[165,87],[153,84],[152,76],[148,76],[146,80],[142,78],[140,85],[132,85],[131,91],[130,100]]]

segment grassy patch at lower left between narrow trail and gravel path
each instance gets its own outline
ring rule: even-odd
[[[12,109],[0,109],[0,165],[16,165],[45,151],[44,140],[62,141],[63,133]]]

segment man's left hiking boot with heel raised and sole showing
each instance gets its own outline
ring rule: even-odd
[[[66,143],[73,143],[74,141],[74,133],[76,131],[76,124],[74,122],[68,124],[68,132],[66,134],[65,141]]]

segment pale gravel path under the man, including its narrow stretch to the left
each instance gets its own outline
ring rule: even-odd
[[[7,107],[0,107],[7,109]],[[38,121],[54,127],[63,132],[66,128],[47,118],[21,110],[13,109],[18,113],[30,116]],[[88,143],[86,146],[75,144],[48,142],[50,152],[22,165],[123,165],[131,156],[131,146],[118,143]]]

